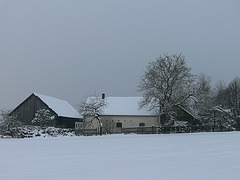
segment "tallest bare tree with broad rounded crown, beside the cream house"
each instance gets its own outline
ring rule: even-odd
[[[159,125],[171,119],[174,106],[194,95],[195,76],[190,71],[182,54],[164,54],[148,64],[138,86],[143,93],[140,108],[157,110]]]

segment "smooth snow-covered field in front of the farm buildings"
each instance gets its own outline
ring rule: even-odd
[[[1,180],[240,179],[240,132],[0,139]]]

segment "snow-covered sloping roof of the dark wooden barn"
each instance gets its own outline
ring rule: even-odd
[[[50,96],[34,93],[39,97],[49,108],[51,108],[58,116],[70,118],[82,118],[80,113],[73,108],[67,101],[57,99]]]

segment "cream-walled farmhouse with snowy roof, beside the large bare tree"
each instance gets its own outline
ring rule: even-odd
[[[105,131],[118,133],[121,128],[131,127],[158,127],[158,115],[147,109],[139,109],[138,103],[141,97],[107,97],[105,98],[106,107],[103,108],[100,116],[101,123]],[[89,122],[94,117],[88,117]],[[87,125],[87,129],[99,128],[100,121],[95,119]],[[78,123],[76,128],[79,127]]]

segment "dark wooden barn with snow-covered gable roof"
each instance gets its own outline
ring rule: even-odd
[[[24,124],[31,124],[40,109],[49,110],[55,116],[56,127],[75,128],[75,122],[82,122],[83,119],[67,101],[38,93],[31,94],[10,115],[16,115]]]

